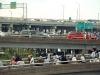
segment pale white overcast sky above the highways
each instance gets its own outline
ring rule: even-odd
[[[29,18],[63,19],[64,15],[64,19],[77,19],[79,7],[80,19],[98,19],[100,13],[100,0],[0,0],[3,4],[11,1],[27,3]],[[21,8],[1,9],[0,16],[22,17],[22,12]]]

